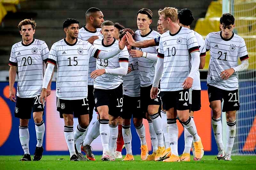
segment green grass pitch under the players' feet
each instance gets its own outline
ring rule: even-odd
[[[61,170],[93,170],[93,169],[217,169],[217,170],[241,170],[241,169],[256,169],[256,156],[232,156],[233,161],[216,160],[215,156],[204,156],[202,161],[190,162],[155,162],[155,161],[140,161],[140,156],[136,155],[134,161],[100,161],[100,156],[95,156],[96,161],[69,161],[68,155],[43,155],[41,161],[21,162],[21,156],[0,156],[0,169],[11,170],[27,170],[27,169],[61,169]],[[32,158],[32,156],[31,156]]]

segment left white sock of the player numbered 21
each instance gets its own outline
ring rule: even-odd
[[[212,117],[212,129],[214,133],[214,137],[218,146],[218,150],[224,149],[224,145],[222,142],[222,124],[221,124],[221,117],[218,119],[214,119]]]

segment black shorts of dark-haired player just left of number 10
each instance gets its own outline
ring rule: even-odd
[[[149,85],[148,87],[140,87],[140,107],[141,111],[146,113],[148,112],[148,106],[149,105],[159,105],[161,106],[161,97],[160,97],[160,86],[158,86],[158,92],[157,92],[157,98],[151,99],[150,98],[150,90],[152,88],[152,85]]]

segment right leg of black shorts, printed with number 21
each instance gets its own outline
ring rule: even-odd
[[[222,112],[237,111],[240,109],[238,89],[227,91],[223,90],[223,108]]]

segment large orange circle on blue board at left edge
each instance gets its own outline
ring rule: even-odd
[[[8,88],[9,91],[9,88]],[[9,94],[8,94],[9,98]],[[11,129],[12,129],[12,114],[9,106],[4,101],[2,97],[0,97],[0,147],[5,143],[8,139]]]

